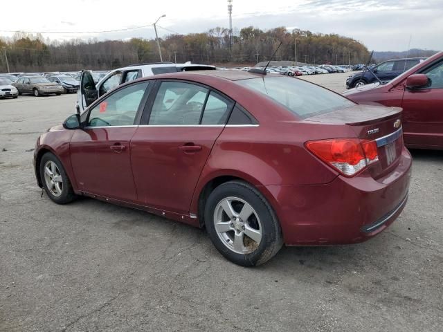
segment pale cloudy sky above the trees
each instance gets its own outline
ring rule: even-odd
[[[0,36],[21,30],[41,32],[50,39],[152,38],[152,26],[82,32],[148,26],[163,14],[160,36],[228,27],[226,0],[46,0],[34,5],[35,0],[21,0],[17,15],[3,13]],[[337,33],[363,42],[370,50],[407,50],[409,42],[410,48],[443,50],[443,0],[233,0],[233,28],[245,26]]]

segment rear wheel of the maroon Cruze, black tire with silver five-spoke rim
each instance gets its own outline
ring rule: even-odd
[[[232,208],[230,217],[226,208]],[[244,213],[246,220],[242,220],[246,211],[250,213]],[[263,264],[282,248],[282,230],[271,205],[246,182],[229,181],[216,187],[206,201],[204,220],[215,248],[235,264]]]

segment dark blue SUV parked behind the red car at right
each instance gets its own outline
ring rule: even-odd
[[[359,86],[363,86],[365,84],[370,84],[374,82],[387,82],[393,80],[395,77],[404,73],[410,68],[413,68],[419,62],[422,62],[424,57],[411,57],[408,59],[395,59],[388,60],[385,62],[381,62],[381,64],[377,64],[372,68],[368,68],[366,71],[362,71],[361,73],[356,73],[350,75],[346,79],[346,88],[358,88]],[[372,71],[372,73],[370,73]],[[377,77],[379,80],[377,80]]]

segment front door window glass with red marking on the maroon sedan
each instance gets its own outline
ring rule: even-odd
[[[91,109],[88,127],[133,125],[148,84],[143,82],[126,86],[102,100]]]

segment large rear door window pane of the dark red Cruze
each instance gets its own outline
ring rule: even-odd
[[[199,124],[208,89],[190,83],[162,82],[157,92],[149,124]]]

